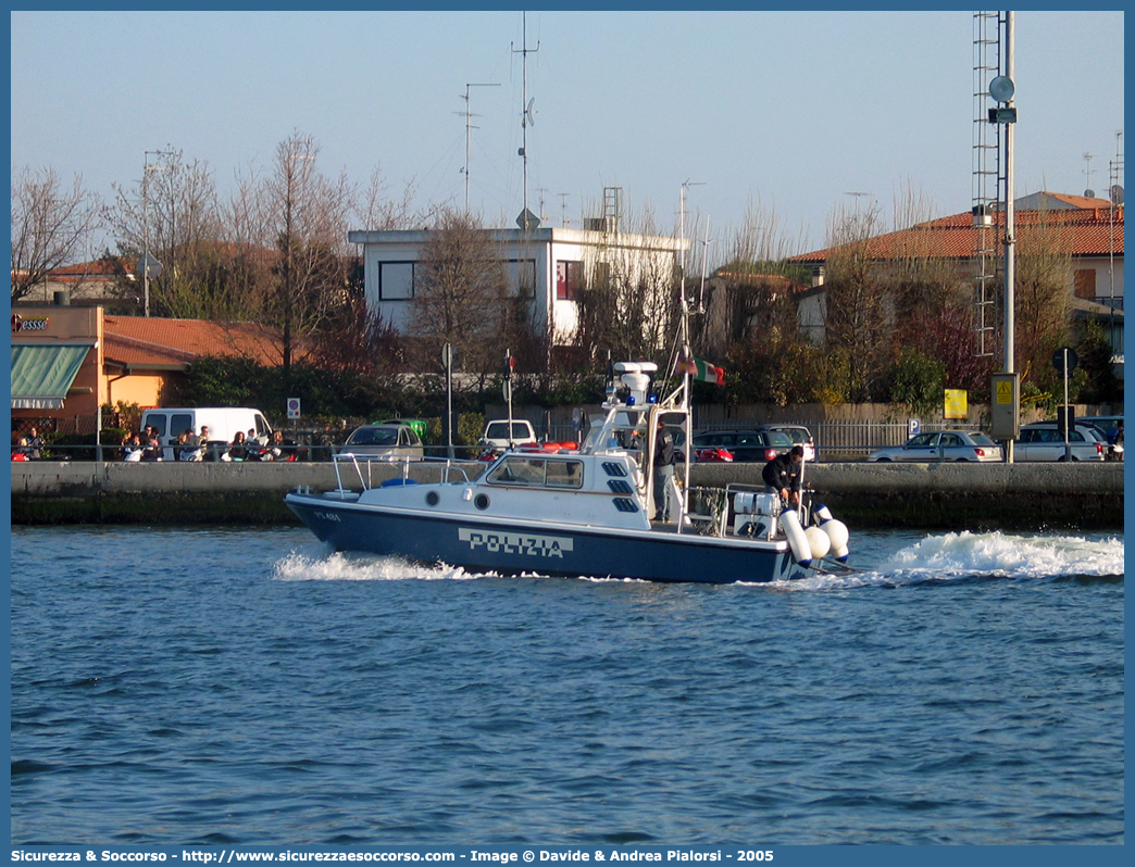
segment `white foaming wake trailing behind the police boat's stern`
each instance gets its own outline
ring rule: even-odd
[[[871,570],[779,582],[779,587],[821,589],[959,580],[1121,580],[1123,576],[1120,538],[962,531],[928,536],[891,554]]]

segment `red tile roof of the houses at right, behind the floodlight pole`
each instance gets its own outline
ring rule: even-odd
[[[1050,195],[1052,195],[1050,193]],[[1078,199],[1079,196],[1066,196]],[[1103,200],[1086,199],[1086,202]],[[1104,205],[1109,204],[1103,202]],[[1003,216],[994,213],[997,224],[1003,224]],[[1124,254],[1124,209],[1110,207],[1060,209],[1044,211],[1017,211],[1014,214],[1018,242],[1034,232],[1045,232],[1050,243],[1059,252],[1073,256],[1105,256],[1113,250]],[[995,233],[1000,235],[1000,233]],[[920,222],[909,229],[892,232],[867,238],[866,254],[872,259],[967,259],[977,249],[977,229],[969,212],[942,217]],[[791,256],[790,262],[825,262],[849,245],[827,247],[812,253]]]

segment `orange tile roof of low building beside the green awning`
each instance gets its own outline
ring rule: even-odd
[[[203,355],[280,361],[271,333],[252,322],[108,315],[103,340],[108,361],[133,368],[186,367]]]

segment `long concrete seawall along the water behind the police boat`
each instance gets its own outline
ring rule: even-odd
[[[480,469],[480,468],[478,468]],[[760,483],[760,464],[698,464],[693,486]],[[347,479],[344,471],[344,480]],[[378,483],[401,470],[371,466]],[[420,481],[437,469],[417,466]],[[805,481],[850,527],[1116,529],[1124,524],[1123,463],[808,465]],[[11,522],[295,523],[284,495],[335,487],[330,463],[11,464]]]

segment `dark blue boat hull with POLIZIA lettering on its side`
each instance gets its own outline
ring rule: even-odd
[[[493,520],[288,494],[288,507],[337,550],[499,574],[733,583],[799,578],[787,545],[667,530],[628,531]]]

